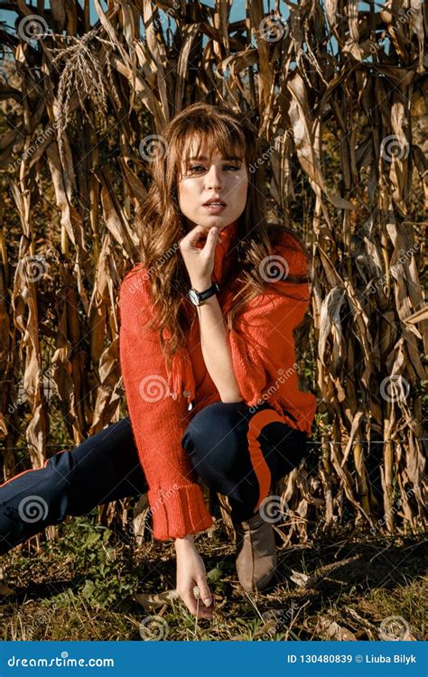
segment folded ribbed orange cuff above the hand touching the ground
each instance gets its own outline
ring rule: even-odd
[[[188,533],[204,531],[213,524],[198,484],[153,489],[147,496],[153,515],[154,538],[160,541],[184,538]]]

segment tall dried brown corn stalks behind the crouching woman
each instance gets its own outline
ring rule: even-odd
[[[5,478],[41,467],[59,426],[65,448],[126,415],[117,299],[135,217],[163,125],[206,101],[256,125],[269,216],[311,253],[295,338],[319,404],[312,463],[275,487],[284,543],[339,524],[420,532],[428,8],[251,0],[232,21],[213,5],[0,3],[17,14],[0,27]]]

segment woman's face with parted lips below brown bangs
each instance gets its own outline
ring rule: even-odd
[[[218,151],[208,157],[202,144],[200,156],[183,163],[177,183],[178,201],[187,230],[203,226],[222,230],[237,220],[247,203],[248,177],[244,161],[225,160]],[[212,204],[208,202],[221,204]]]

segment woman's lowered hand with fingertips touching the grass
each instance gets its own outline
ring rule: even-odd
[[[177,538],[177,592],[193,616],[212,617],[212,596],[207,583],[207,574],[200,554],[195,548],[192,536]],[[200,590],[199,599],[194,588]]]

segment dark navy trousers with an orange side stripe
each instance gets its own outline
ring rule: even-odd
[[[195,414],[181,444],[193,477],[228,496],[233,522],[254,515],[274,481],[306,453],[306,433],[284,424],[264,403],[214,403]],[[51,456],[44,468],[25,470],[0,486],[0,553],[66,515],[147,491],[128,418]]]

